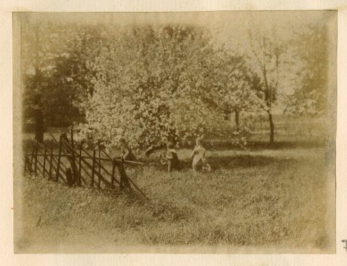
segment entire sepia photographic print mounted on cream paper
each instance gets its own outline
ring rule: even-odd
[[[15,254],[335,254],[337,10],[12,26]]]

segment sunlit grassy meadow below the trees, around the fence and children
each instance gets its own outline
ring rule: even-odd
[[[189,152],[179,151],[181,172],[149,161],[136,173],[149,202],[15,177],[15,252],[335,251],[335,176],[324,147],[211,151],[212,172],[198,175]]]

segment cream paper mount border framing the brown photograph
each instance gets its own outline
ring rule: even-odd
[[[12,1],[1,8],[1,258],[8,265],[94,265],[126,263],[133,265],[343,265],[347,250],[341,240],[347,239],[346,177],[347,172],[347,47],[346,1]],[[343,6],[344,4],[344,6]],[[12,195],[12,143],[15,143],[12,128],[12,12],[172,12],[172,11],[216,11],[216,10],[338,10],[337,51],[337,139],[336,139],[336,254],[326,255],[212,255],[212,254],[13,254],[13,195]],[[6,88],[6,89],[5,89]]]

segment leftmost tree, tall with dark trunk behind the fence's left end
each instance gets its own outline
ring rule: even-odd
[[[49,98],[49,76],[58,53],[55,33],[49,24],[25,24],[23,27],[24,118],[35,124],[35,139],[43,141],[44,105]]]

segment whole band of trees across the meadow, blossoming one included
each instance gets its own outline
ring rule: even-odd
[[[242,145],[239,114],[266,112],[273,142],[279,98],[291,113],[325,112],[327,36],[324,25],[287,39],[251,29],[237,53],[192,25],[24,24],[24,118],[37,141],[48,126],[74,125],[80,139],[109,146],[121,136],[137,147],[203,134]]]

